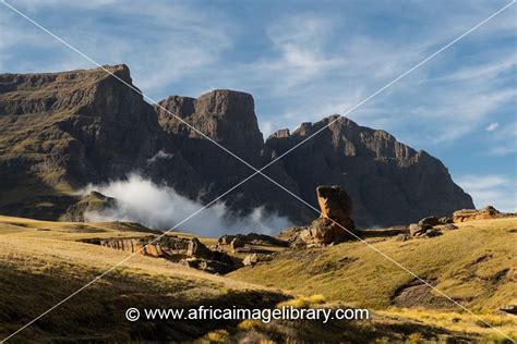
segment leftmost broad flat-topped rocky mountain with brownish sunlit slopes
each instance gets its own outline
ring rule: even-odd
[[[132,83],[125,65],[107,67]],[[3,212],[23,208],[26,216],[53,219],[70,206],[56,200],[56,194],[129,171],[171,186],[202,185],[163,133],[153,107],[100,69],[0,75],[0,128]],[[149,163],[158,151],[169,158]],[[199,192],[184,191],[191,197]],[[35,206],[40,204],[46,206]]]

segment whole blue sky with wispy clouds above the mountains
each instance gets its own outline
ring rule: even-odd
[[[344,113],[505,1],[9,1],[151,98],[252,94],[265,135]],[[0,72],[94,67],[0,5]],[[517,210],[517,4],[348,114]]]

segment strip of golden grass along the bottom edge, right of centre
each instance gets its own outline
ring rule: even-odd
[[[304,306],[314,302],[318,303],[313,305],[314,307],[348,308],[342,303],[324,303],[320,295],[296,298],[300,299]],[[282,302],[277,307],[285,305],[290,304]],[[442,327],[442,323],[424,322],[414,315],[406,317],[398,310],[374,311],[370,316],[371,319],[368,321],[330,318],[327,323],[317,320],[272,320],[267,323],[244,320],[225,332],[225,341],[228,343],[500,343],[505,339],[490,332],[468,332],[468,328],[448,329],[445,327],[447,323],[443,323]],[[206,336],[204,339],[206,340]]]

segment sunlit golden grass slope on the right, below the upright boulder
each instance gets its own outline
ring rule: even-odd
[[[494,311],[517,300],[517,234],[513,229],[517,229],[516,218],[473,221],[438,237],[402,243],[388,237],[371,245],[419,277],[436,281],[436,288],[467,307]],[[285,251],[229,277],[378,309],[389,306],[396,292],[414,280],[360,242]],[[450,307],[456,306],[450,303]]]

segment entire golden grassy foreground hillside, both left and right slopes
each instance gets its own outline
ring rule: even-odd
[[[516,299],[513,245],[516,224],[516,219],[479,221],[429,239],[399,243],[390,237],[370,237],[368,241],[416,273],[435,281],[436,287],[515,337],[516,317],[497,312],[497,308]],[[77,241],[146,236],[149,232],[154,231],[135,223],[0,217],[0,339],[129,256],[127,251]],[[214,242],[201,239],[206,244]],[[137,255],[10,342],[504,340],[477,317],[436,300],[436,296],[426,295],[418,286],[417,292],[409,295],[417,295],[423,302],[408,304],[404,286],[409,285],[411,279],[377,256],[361,243],[286,249],[270,261],[219,277]],[[311,297],[314,294],[317,295]],[[297,307],[354,304],[375,311],[368,321],[326,324],[314,321],[129,322],[124,318],[129,307],[262,308],[275,307],[289,297],[294,298],[287,302]]]

